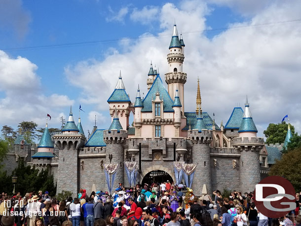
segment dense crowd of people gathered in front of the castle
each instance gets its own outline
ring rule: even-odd
[[[299,203],[300,201],[300,203]],[[48,192],[0,195],[0,226],[301,226],[301,200],[280,219],[260,213],[252,192],[219,190],[197,197],[169,181],[124,188],[114,193],[80,189],[60,202]]]

